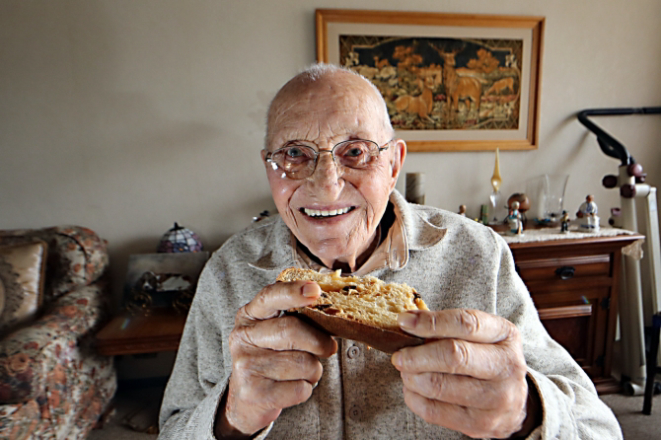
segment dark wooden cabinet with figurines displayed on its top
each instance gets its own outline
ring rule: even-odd
[[[509,245],[542,323],[599,393],[619,390],[611,363],[622,248],[641,238],[618,235]]]

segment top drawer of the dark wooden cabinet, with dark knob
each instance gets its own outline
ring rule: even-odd
[[[517,261],[516,266],[523,281],[611,276],[611,262],[608,254]]]

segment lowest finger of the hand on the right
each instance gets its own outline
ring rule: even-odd
[[[427,423],[445,426],[474,438],[508,438],[525,420],[522,411],[492,411],[431,400],[404,387],[404,402]]]

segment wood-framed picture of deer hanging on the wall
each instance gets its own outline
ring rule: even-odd
[[[544,17],[317,9],[317,61],[379,89],[410,152],[538,148]]]

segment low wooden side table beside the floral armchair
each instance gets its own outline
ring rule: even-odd
[[[96,335],[96,349],[106,356],[176,351],[186,315],[174,309],[152,310],[149,316],[122,312]]]

